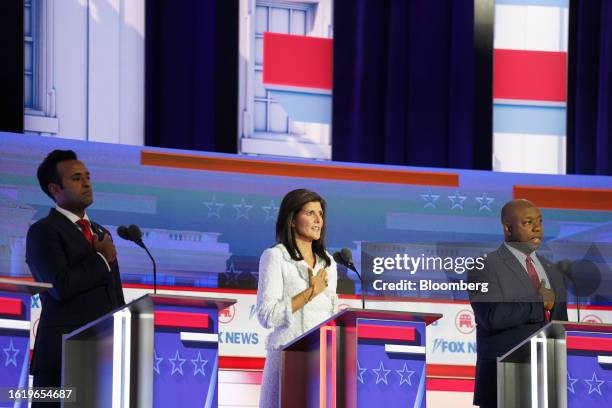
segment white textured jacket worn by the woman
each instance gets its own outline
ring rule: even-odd
[[[329,254],[327,255],[331,260],[331,265],[327,267],[327,289],[295,313],[291,310],[291,298],[310,286],[306,261],[291,259],[282,244],[266,249],[261,255],[257,286],[257,317],[262,326],[274,329],[268,337],[267,349],[281,348],[336,312],[338,272],[336,262]],[[324,268],[325,260],[317,256],[313,275],[316,276]]]

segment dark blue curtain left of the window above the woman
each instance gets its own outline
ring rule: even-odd
[[[145,143],[235,153],[238,2],[148,0]]]

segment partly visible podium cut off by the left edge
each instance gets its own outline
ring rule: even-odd
[[[28,387],[30,298],[52,287],[48,283],[0,278],[0,387]],[[28,403],[21,404],[27,407]]]

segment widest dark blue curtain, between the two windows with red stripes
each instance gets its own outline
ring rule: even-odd
[[[475,2],[335,0],[334,160],[491,169],[492,44],[475,78]]]

